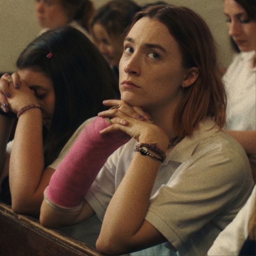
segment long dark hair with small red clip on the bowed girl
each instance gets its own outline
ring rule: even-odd
[[[53,56],[47,58],[47,54]],[[49,30],[33,40],[17,60],[18,69],[43,72],[54,86],[55,109],[44,137],[45,166],[53,162],[74,131],[119,98],[118,81],[91,41],[72,27]]]

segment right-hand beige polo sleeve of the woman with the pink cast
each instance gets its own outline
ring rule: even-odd
[[[243,150],[205,140],[152,197],[145,219],[179,249],[218,213],[230,207],[226,214],[235,216],[253,186],[246,171]]]

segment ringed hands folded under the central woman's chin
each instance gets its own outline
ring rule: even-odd
[[[130,106],[125,101],[107,100],[106,106],[119,106],[98,113],[100,117],[110,117],[112,125],[103,129],[101,134],[121,130],[136,139],[139,143],[157,143],[163,151],[167,150],[169,139],[165,131],[155,125],[150,115],[140,107]]]

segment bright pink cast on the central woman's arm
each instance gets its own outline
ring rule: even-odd
[[[107,158],[129,140],[122,131],[99,133],[110,125],[97,117],[82,131],[50,179],[45,191],[50,202],[65,208],[81,203]]]

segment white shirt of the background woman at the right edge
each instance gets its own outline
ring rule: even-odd
[[[256,129],[256,72],[252,59],[255,51],[234,57],[223,76],[227,92],[226,129]]]

